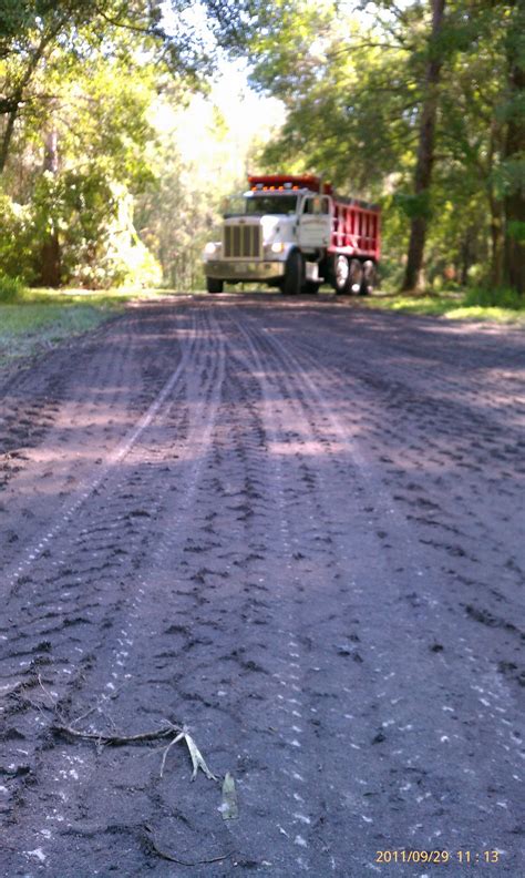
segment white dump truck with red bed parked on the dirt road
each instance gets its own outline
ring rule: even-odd
[[[229,201],[220,241],[206,244],[208,293],[257,283],[285,295],[372,292],[381,251],[377,204],[333,193],[315,174],[248,176],[248,191]]]

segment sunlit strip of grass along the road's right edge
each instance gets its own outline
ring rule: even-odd
[[[378,294],[362,302],[370,308],[445,317],[449,320],[486,320],[525,326],[525,299],[505,289],[443,292],[426,296]]]

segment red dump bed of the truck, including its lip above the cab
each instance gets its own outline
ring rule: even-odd
[[[346,256],[362,256],[379,261],[381,255],[381,210],[377,204],[344,198],[332,192],[330,183],[325,183],[313,174],[260,174],[249,176],[253,190],[267,192],[289,192],[308,188],[331,195],[333,201],[333,226],[329,253],[343,253]]]

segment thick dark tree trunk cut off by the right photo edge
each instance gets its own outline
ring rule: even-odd
[[[505,247],[503,279],[512,289],[525,295],[525,0],[515,2],[515,21],[508,34],[508,73],[511,103],[505,141],[504,160],[507,166],[522,165],[505,197]]]

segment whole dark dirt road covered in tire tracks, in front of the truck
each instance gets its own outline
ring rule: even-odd
[[[517,330],[222,296],[4,378],[0,874],[523,874],[524,368]],[[171,738],[55,727],[167,722],[237,820],[183,744],[161,778]]]

